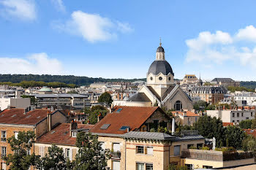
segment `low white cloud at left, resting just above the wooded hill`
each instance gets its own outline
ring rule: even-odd
[[[27,58],[0,58],[1,74],[61,74],[62,64],[46,53],[34,53]]]

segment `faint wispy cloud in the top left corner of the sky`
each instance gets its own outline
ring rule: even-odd
[[[37,18],[34,0],[1,0],[1,15],[4,18],[35,20]]]

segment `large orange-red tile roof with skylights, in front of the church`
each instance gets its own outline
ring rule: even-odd
[[[99,121],[94,128],[91,128],[93,133],[104,134],[125,134],[127,131],[120,131],[123,126],[129,126],[130,131],[134,131],[136,128],[140,128],[143,123],[148,120],[159,107],[114,107],[114,111],[108,113],[102,120]],[[121,112],[116,112],[121,109]],[[102,125],[110,124],[107,129],[101,129]]]

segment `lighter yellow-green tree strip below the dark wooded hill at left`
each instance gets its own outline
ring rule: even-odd
[[[0,85],[21,86],[23,88],[48,86],[50,88],[76,88],[75,84],[66,84],[64,82],[36,82],[36,81],[22,81],[22,82],[0,82]]]

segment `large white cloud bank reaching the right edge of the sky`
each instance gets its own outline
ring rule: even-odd
[[[251,41],[248,47],[248,41]],[[189,48],[187,63],[197,61],[201,64],[238,63],[256,69],[256,28],[247,26],[230,36],[229,33],[217,31],[215,34],[201,32],[195,39],[187,39]]]

